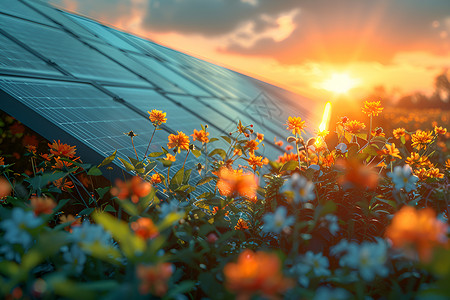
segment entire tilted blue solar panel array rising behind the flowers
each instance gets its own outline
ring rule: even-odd
[[[273,138],[289,134],[287,117],[301,116],[314,128],[323,105],[33,0],[0,4],[0,90],[2,110],[47,139],[71,139],[87,161],[116,149],[134,156],[123,134],[129,130],[138,134],[142,157],[153,132],[151,109],[168,117],[151,151],[177,130],[191,134],[208,124],[211,136],[220,136],[242,120],[265,134],[260,151],[276,159],[282,149]],[[191,155],[187,167],[196,162]]]

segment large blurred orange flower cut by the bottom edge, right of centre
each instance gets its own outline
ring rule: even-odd
[[[250,299],[254,294],[262,294],[276,299],[289,289],[293,282],[281,272],[281,262],[276,254],[244,250],[237,263],[228,263],[223,269],[226,287],[237,294],[236,299]]]

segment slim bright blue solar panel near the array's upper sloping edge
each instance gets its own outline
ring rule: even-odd
[[[97,22],[93,22],[86,18],[75,16],[72,14],[66,14],[72,20],[75,20],[83,27],[87,28],[89,31],[93,32],[95,35],[106,41],[112,46],[115,46],[119,49],[124,49],[128,51],[140,52],[138,49],[127,43],[125,40],[121,39],[117,35],[115,35],[112,31],[113,29],[107,28]]]

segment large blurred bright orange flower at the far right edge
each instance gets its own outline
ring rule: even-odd
[[[433,248],[446,243],[447,225],[436,219],[431,208],[416,210],[404,206],[386,228],[386,237],[395,248],[417,251],[420,259],[429,261]]]

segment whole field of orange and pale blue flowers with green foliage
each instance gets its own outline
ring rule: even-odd
[[[239,122],[228,136],[170,134],[160,152],[152,135],[144,157],[111,149],[98,165],[3,118],[3,143],[18,146],[0,157],[0,295],[448,299],[449,116],[386,110],[366,101],[308,140],[291,116],[276,161]],[[153,133],[170,123],[148,113]],[[113,162],[133,176],[106,180]]]

